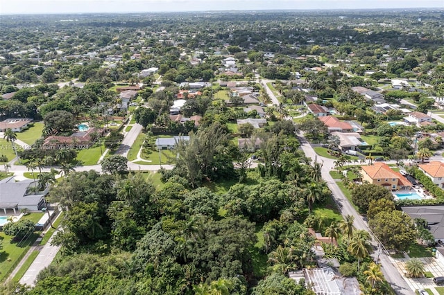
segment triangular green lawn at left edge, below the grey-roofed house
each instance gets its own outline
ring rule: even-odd
[[[38,236],[37,233],[33,233],[28,239],[17,242],[12,240],[13,237],[10,235],[0,232],[0,240],[3,244],[3,249],[0,252],[0,282],[8,277]]]

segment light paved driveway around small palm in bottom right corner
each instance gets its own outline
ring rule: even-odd
[[[390,258],[393,260],[393,264],[396,265],[400,274],[404,276],[407,273],[405,270],[405,263],[410,260],[409,256],[406,255],[406,258]],[[436,276],[444,276],[444,265],[438,263],[436,258],[434,257],[425,257],[419,258],[422,262],[424,262],[425,271],[430,271],[434,277]],[[433,278],[407,278],[404,276],[407,284],[411,287],[412,290],[417,289],[430,289],[436,295],[439,295],[438,291],[436,291],[436,285],[433,283]]]

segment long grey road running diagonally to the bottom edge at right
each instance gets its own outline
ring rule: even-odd
[[[336,202],[339,211],[343,216],[352,215],[355,217],[355,228],[363,229],[364,231],[368,231],[370,233],[370,229],[368,228],[368,224],[363,220],[363,217],[357,213],[355,208],[352,207],[348,199],[343,195],[341,189],[336,184],[336,181],[330,176],[330,171],[334,168],[334,159],[327,159],[324,157],[319,157],[316,152],[313,150],[313,147],[305,141],[302,141],[301,148],[305,152],[307,157],[311,159],[316,159],[318,163],[323,163],[322,166],[322,177],[327,182],[327,186],[332,191],[332,195],[334,197],[334,201]],[[372,244],[374,247],[377,247],[377,242],[373,238]],[[377,251],[375,251],[377,252]],[[377,253],[374,253],[374,256],[377,256]],[[389,258],[385,253],[379,254],[379,263],[382,265],[382,272],[387,282],[390,283],[391,287],[395,290],[396,294],[400,295],[410,295],[415,294],[407,285],[406,281],[400,275],[400,272],[396,267],[391,263]]]

